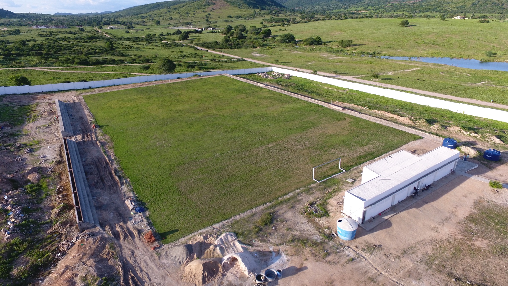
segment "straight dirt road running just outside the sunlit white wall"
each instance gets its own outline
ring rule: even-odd
[[[228,53],[223,53],[223,52],[217,52],[217,51],[205,49],[205,48],[202,48],[202,47],[199,47],[199,46],[195,46],[195,47],[197,47],[197,48],[199,48],[201,50],[213,52],[213,53],[216,53],[216,54],[231,56],[232,58],[236,58],[236,59],[240,59],[241,58],[240,56],[233,55],[233,54],[228,54]],[[275,65],[275,64],[271,64],[271,63],[266,63],[266,62],[261,62],[261,61],[258,61],[258,60],[252,60],[252,59],[246,59],[246,58],[243,58],[243,59],[246,60],[246,61],[253,62],[253,63],[258,63],[258,64],[262,64],[262,65],[268,65],[268,66],[274,66],[274,67],[283,68],[283,69],[290,69],[290,70],[301,71],[301,72],[308,72],[308,73],[312,72],[311,70],[306,70],[306,69],[300,69],[300,68],[294,68],[294,67],[288,67],[288,66],[282,66],[282,65]],[[400,87],[399,85],[393,85],[393,84],[388,84],[388,83],[376,82],[376,81],[372,81],[372,80],[359,79],[359,78],[355,78],[355,77],[351,77],[351,76],[336,75],[336,74],[333,74],[333,73],[317,72],[317,74],[325,75],[325,76],[330,76],[330,77],[335,77],[335,78],[340,78],[340,79],[345,79],[345,80],[350,80],[350,81],[356,81],[356,82],[366,83],[366,84],[371,84],[371,85],[376,85],[378,87],[384,87],[384,88],[395,89],[395,90],[402,90],[402,91],[409,91],[409,92],[414,92],[414,93],[423,94],[423,95],[430,95],[430,96],[439,97],[439,98],[447,98],[447,99],[453,99],[453,100],[467,102],[467,103],[481,104],[481,105],[485,105],[485,106],[492,106],[492,107],[498,107],[498,108],[508,109],[508,105],[499,104],[499,103],[491,103],[491,102],[482,101],[482,100],[476,100],[476,99],[470,99],[470,98],[464,98],[464,97],[457,97],[457,96],[452,96],[452,95],[440,94],[440,93],[435,93],[435,92],[429,92],[429,91],[422,91],[422,90],[417,90],[417,89],[405,88],[405,87]]]

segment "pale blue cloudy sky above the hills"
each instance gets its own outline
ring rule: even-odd
[[[56,12],[90,13],[118,11],[157,0],[0,0],[0,8],[12,12],[54,14]]]

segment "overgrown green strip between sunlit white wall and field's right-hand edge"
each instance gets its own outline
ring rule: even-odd
[[[446,109],[419,105],[360,91],[347,90],[336,87],[335,85],[305,78],[265,79],[255,74],[242,76],[260,82],[275,83],[284,90],[307,95],[325,102],[355,104],[363,107],[359,109],[362,112],[367,112],[375,117],[380,117],[379,113],[375,112],[375,110],[387,111],[394,115],[409,118],[414,123],[408,125],[412,128],[420,128],[431,130],[434,133],[440,133],[440,130],[430,129],[430,126],[440,125],[441,128],[456,126],[467,132],[484,135],[485,138],[494,135],[502,141],[508,142],[508,136],[506,135],[508,132],[508,123],[504,122],[474,117]],[[388,118],[388,120],[403,124],[393,118]]]

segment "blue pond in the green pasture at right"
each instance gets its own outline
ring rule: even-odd
[[[419,56],[414,58],[409,58],[407,56],[383,56],[382,58],[388,60],[417,61],[432,64],[444,64],[453,67],[474,70],[508,71],[508,63],[504,62],[481,62],[473,59],[430,58],[426,56]]]

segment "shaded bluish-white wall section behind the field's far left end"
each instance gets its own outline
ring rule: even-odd
[[[42,85],[21,85],[19,87],[0,87],[0,95],[40,93],[40,92],[57,92],[57,91],[79,90],[79,89],[94,89],[94,88],[109,87],[111,85],[122,85],[122,84],[155,81],[155,80],[186,78],[186,77],[192,77],[195,75],[206,76],[206,75],[217,75],[217,74],[224,74],[224,73],[235,75],[235,74],[247,74],[247,73],[258,73],[258,72],[269,72],[269,71],[272,71],[272,67],[240,69],[240,70],[210,71],[210,72],[155,74],[155,75],[123,77],[123,78],[110,79],[110,80],[86,81],[86,82],[79,81],[79,82],[54,83],[54,84],[42,84]]]

